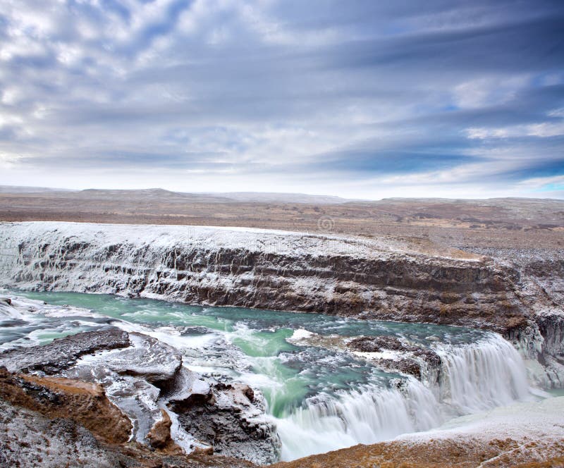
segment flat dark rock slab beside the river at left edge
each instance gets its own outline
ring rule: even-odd
[[[19,347],[1,352],[0,365],[12,372],[41,371],[52,375],[73,366],[83,355],[129,345],[128,333],[118,328],[87,331],[56,339],[48,345]]]

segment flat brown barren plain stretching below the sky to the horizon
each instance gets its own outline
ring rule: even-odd
[[[28,192],[26,190],[29,190]],[[150,190],[57,191],[2,187],[0,221],[241,226],[396,238],[452,247],[564,248],[564,201],[383,199]],[[256,200],[256,201],[255,201]]]

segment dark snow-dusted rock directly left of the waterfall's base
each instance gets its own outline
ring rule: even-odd
[[[216,383],[207,394],[174,400],[171,409],[181,426],[214,453],[258,464],[276,462],[280,440],[266,420],[264,406],[243,384]]]

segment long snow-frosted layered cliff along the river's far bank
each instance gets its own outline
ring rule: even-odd
[[[487,328],[541,364],[562,362],[562,259],[519,264],[398,240],[50,222],[3,223],[0,245],[8,286]],[[557,374],[544,378],[560,386]]]

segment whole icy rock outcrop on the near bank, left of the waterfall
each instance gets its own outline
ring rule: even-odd
[[[70,419],[104,443],[123,444],[133,436],[140,446],[170,456],[195,450],[204,458],[278,460],[280,441],[264,400],[249,386],[207,380],[182,362],[176,348],[141,333],[78,333],[1,353],[0,365],[9,371],[0,367],[0,400]],[[177,413],[177,431],[190,434],[191,447],[173,441],[165,405]]]

